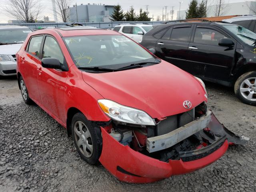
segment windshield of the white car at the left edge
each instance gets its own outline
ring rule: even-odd
[[[2,29],[0,30],[0,45],[24,43],[30,32],[32,31],[29,28]]]

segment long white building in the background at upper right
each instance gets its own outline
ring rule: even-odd
[[[222,4],[219,16],[254,15],[254,13],[251,11],[252,9],[256,10],[256,2],[254,1]],[[180,12],[178,11],[177,20],[186,19],[186,11],[187,10],[181,10]],[[207,6],[207,17],[218,16],[216,11],[218,11],[218,5]]]

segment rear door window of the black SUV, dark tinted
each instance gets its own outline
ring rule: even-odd
[[[172,29],[170,40],[189,41],[192,26],[177,26]]]

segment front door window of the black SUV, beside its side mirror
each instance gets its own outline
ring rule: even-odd
[[[220,32],[211,28],[196,28],[194,42],[207,45],[218,45],[221,38],[227,38]]]

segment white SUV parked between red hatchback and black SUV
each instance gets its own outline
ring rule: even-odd
[[[115,26],[113,30],[128,36],[137,43],[140,43],[142,41],[142,36],[152,28],[152,25],[146,24],[120,24]]]

